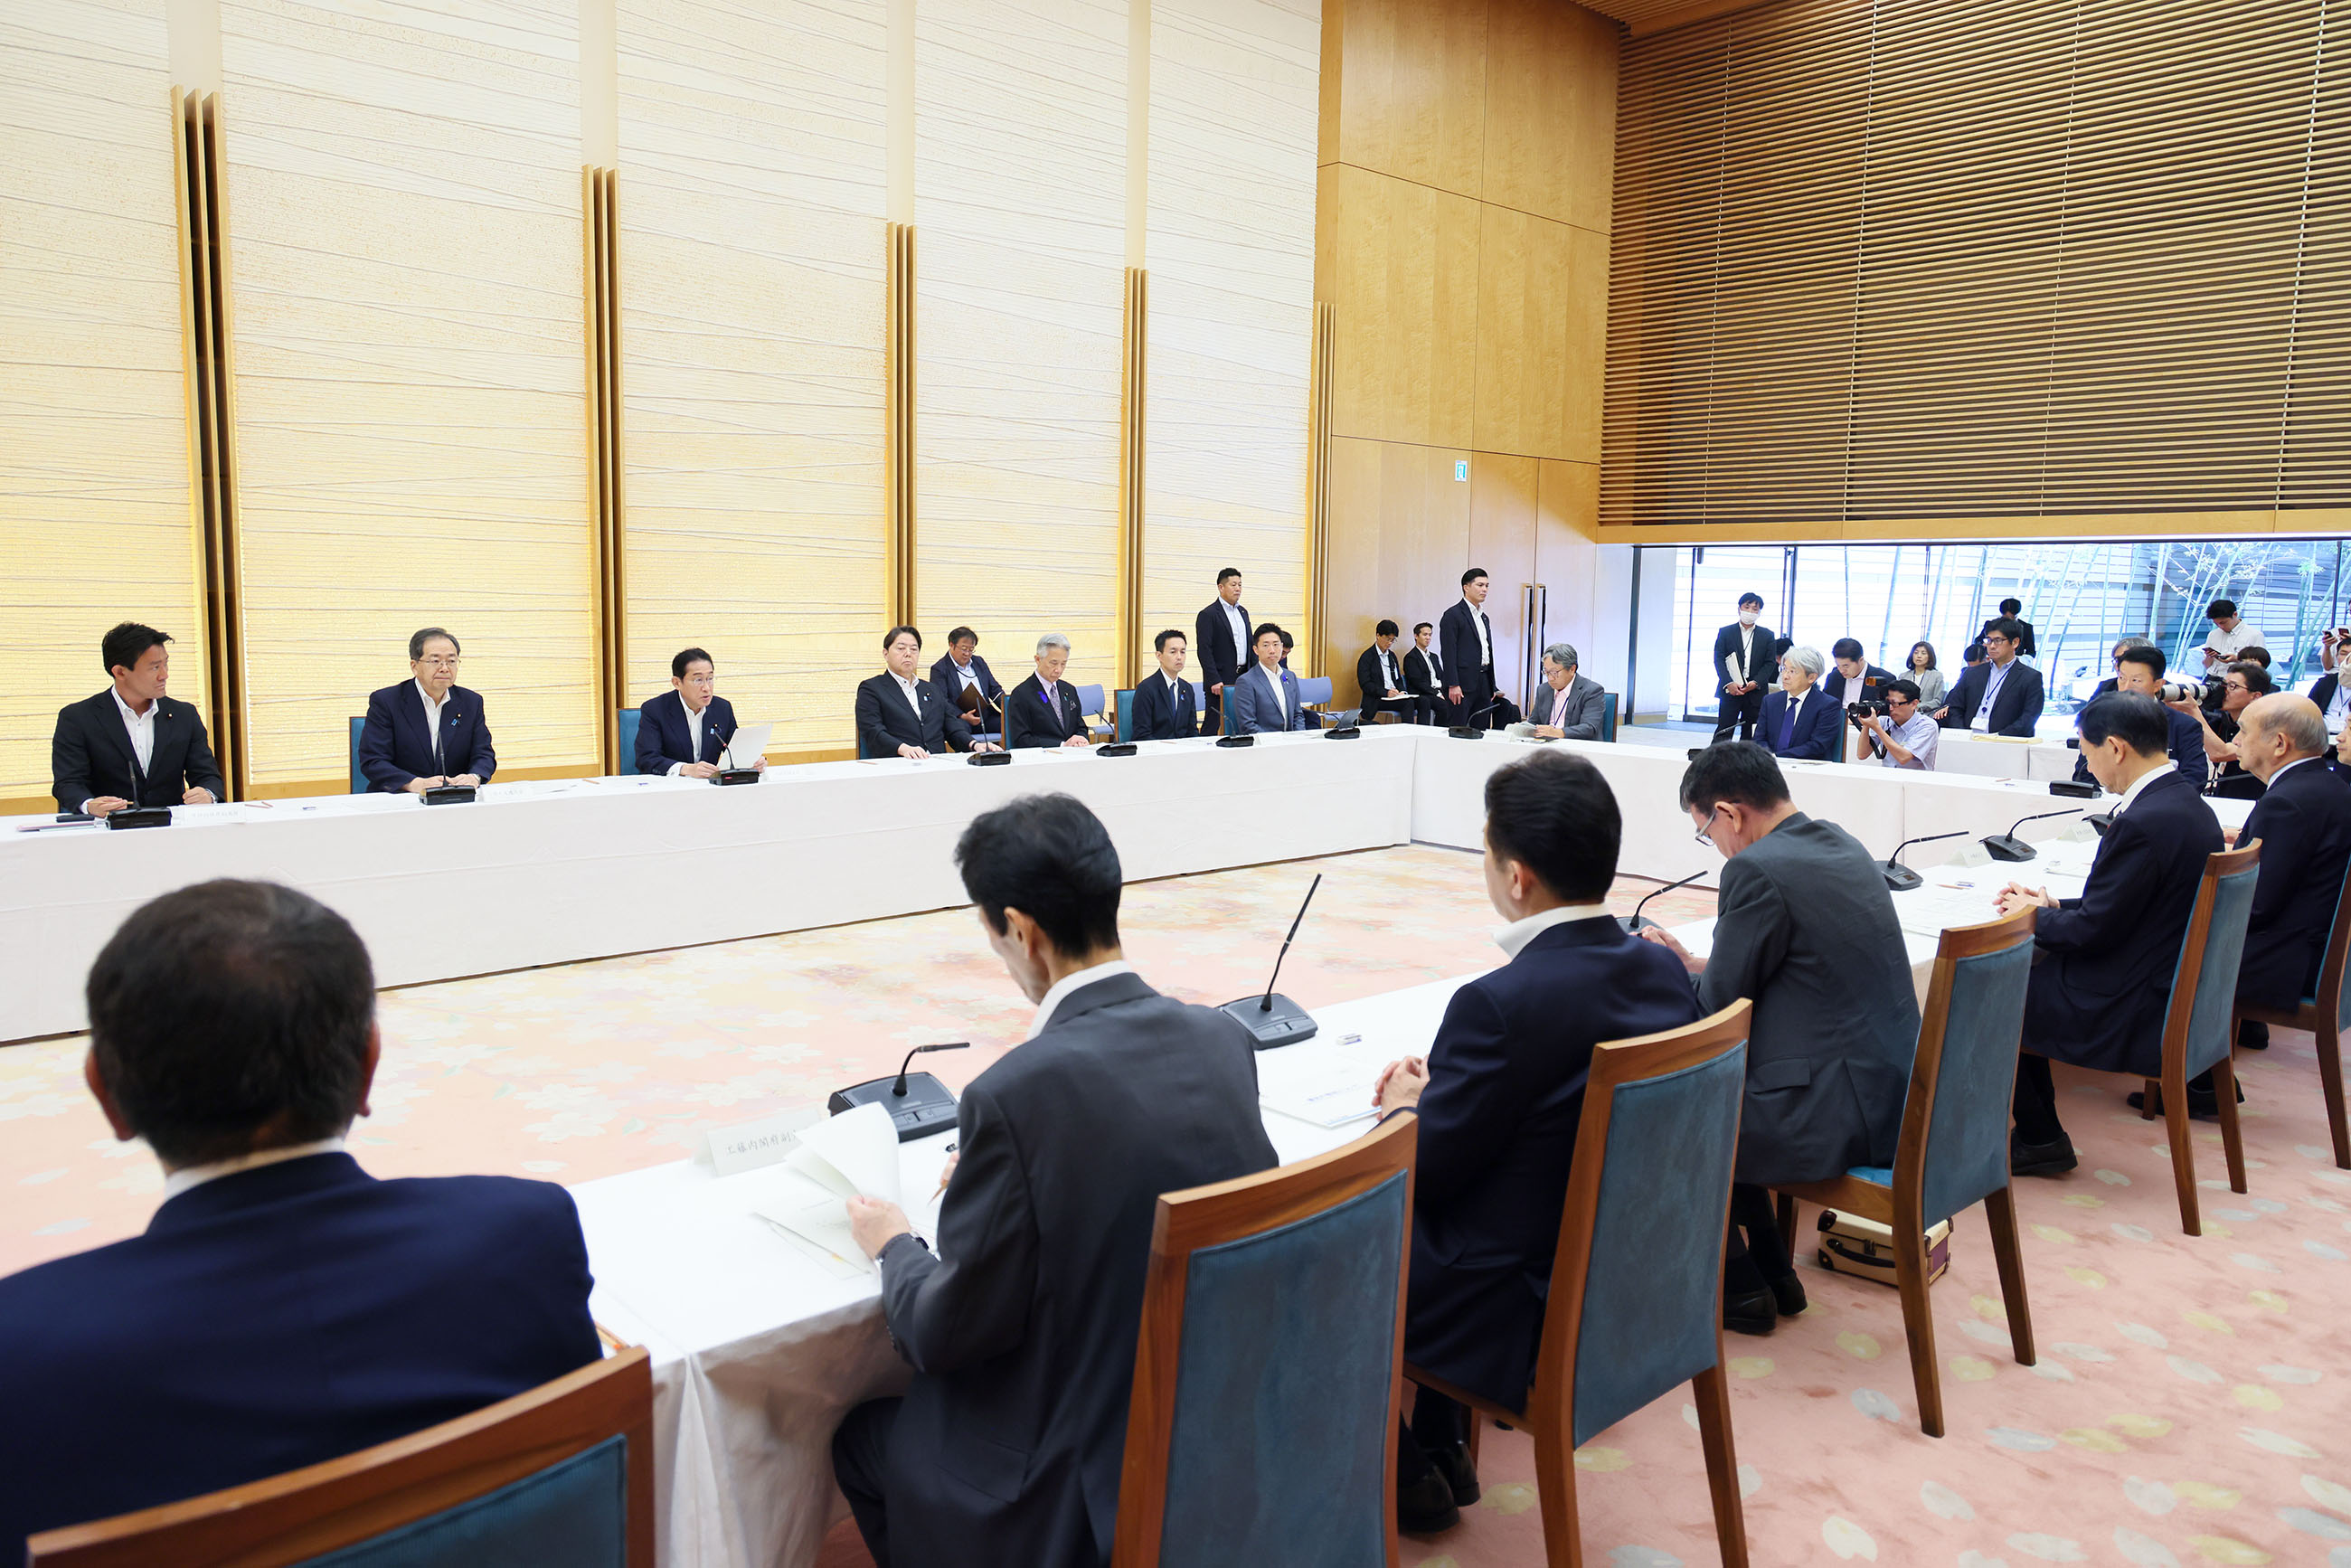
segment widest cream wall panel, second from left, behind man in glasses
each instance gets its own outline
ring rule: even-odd
[[[221,66],[256,792],[428,623],[501,773],[592,769],[578,7],[223,0]]]

